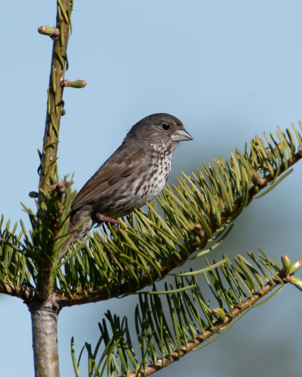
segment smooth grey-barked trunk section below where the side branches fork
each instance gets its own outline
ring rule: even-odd
[[[32,300],[28,305],[32,322],[35,377],[59,377],[58,308]]]

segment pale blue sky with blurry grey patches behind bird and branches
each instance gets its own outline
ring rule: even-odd
[[[37,28],[53,26],[55,12],[55,1],[5,2],[0,15],[0,212],[27,225],[20,202],[34,207],[28,193],[39,181],[37,149],[42,149],[52,49],[51,39]],[[277,124],[281,129],[297,125],[302,120],[301,15],[300,1],[74,0],[66,78],[86,80],[87,86],[64,91],[60,175],[75,172],[79,190],[127,130],[156,112],[177,116],[194,137],[174,152],[170,183],[181,170],[190,173],[217,156],[228,158],[235,147],[244,150],[255,134],[275,133]],[[252,202],[213,258],[257,252],[257,247],[271,257],[301,257],[301,172],[297,164],[276,189]],[[3,375],[32,376],[27,308],[15,298],[0,300]],[[131,317],[136,297],[130,301],[62,310],[62,376],[73,373],[71,336],[78,350],[85,341],[95,344],[103,313],[110,309]],[[201,368],[204,376],[264,375],[265,368],[268,375],[298,376],[300,313],[299,291],[285,287],[219,340],[158,375],[181,375],[190,365],[192,376]],[[87,375],[85,362],[82,367]]]

